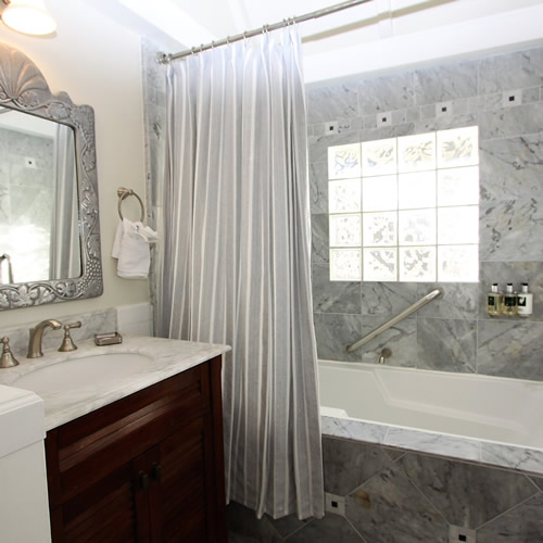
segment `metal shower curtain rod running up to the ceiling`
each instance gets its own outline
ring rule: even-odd
[[[187,49],[186,51],[180,51],[179,53],[159,53],[157,60],[161,64],[167,64],[168,62],[175,61],[176,59],[182,59],[185,56],[189,56],[190,54],[201,53],[202,51],[207,51],[209,49],[213,49],[214,47],[226,46],[227,43],[239,41],[244,38],[252,38],[253,36],[257,36],[258,34],[264,34],[269,30],[277,30],[278,28],[290,24],[304,23],[305,21],[311,21],[313,18],[331,15],[332,13],[338,13],[339,11],[346,10],[348,8],[354,8],[355,5],[368,3],[371,1],[372,0],[350,0],[348,2],[341,2],[334,5],[330,5],[329,8],[312,11],[311,13],[306,13],[305,15],[300,15],[298,17],[283,18],[280,23],[264,25],[260,28],[255,28],[254,30],[244,31],[243,34],[237,34],[236,36],[228,36],[226,38],[223,38],[222,40],[206,43],[205,46],[202,45],[200,47],[193,47],[192,49]]]

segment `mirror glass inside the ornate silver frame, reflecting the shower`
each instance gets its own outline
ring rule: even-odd
[[[0,282],[81,274],[72,127],[0,108]]]

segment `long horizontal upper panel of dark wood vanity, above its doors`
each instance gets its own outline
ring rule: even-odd
[[[48,433],[62,503],[209,409],[207,365],[198,366]],[[53,452],[54,449],[54,452]],[[52,458],[51,458],[52,459]]]

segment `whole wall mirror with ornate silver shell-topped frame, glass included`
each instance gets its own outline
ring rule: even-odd
[[[0,43],[0,310],[102,291],[93,111]]]

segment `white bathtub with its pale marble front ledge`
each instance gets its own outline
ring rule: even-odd
[[[543,473],[543,382],[319,362],[323,433]]]

